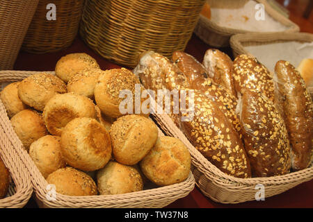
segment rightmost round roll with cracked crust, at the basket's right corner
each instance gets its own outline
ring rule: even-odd
[[[161,136],[140,165],[145,176],[156,185],[172,185],[188,178],[191,156],[179,139]]]

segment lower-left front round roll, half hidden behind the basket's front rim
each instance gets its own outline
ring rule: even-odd
[[[97,185],[86,173],[72,167],[58,169],[51,173],[47,182],[56,186],[58,194],[68,196],[97,195]]]

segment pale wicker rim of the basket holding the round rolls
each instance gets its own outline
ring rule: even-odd
[[[35,71],[0,71],[0,83],[8,83],[20,81],[31,74],[36,74]],[[54,74],[54,72],[51,72]],[[31,173],[31,180],[35,191],[35,198],[39,207],[165,207],[179,198],[187,196],[195,187],[193,174],[190,172],[188,178],[175,185],[166,187],[157,187],[145,189],[129,194],[111,195],[111,196],[65,196],[56,194],[56,200],[49,201],[47,195],[47,181],[35,166],[33,160],[23,148],[22,142],[15,134],[10,120],[6,115],[3,103],[0,100],[0,117],[3,131],[8,135],[8,139],[13,144],[16,153],[26,165],[26,169]],[[159,130],[160,135],[161,130]]]

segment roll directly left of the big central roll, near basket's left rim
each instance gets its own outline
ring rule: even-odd
[[[44,178],[66,167],[61,154],[61,137],[47,135],[39,138],[29,147],[29,155]]]

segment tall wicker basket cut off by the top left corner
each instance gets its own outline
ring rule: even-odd
[[[0,1],[0,70],[13,69],[38,0]]]

